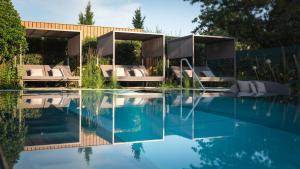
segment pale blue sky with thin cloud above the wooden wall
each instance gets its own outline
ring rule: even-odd
[[[78,23],[88,0],[12,0],[22,20],[55,23]],[[91,0],[95,25],[133,28],[134,11],[141,7],[146,16],[144,27],[173,36],[184,36],[196,27],[192,20],[200,5],[183,0]]]

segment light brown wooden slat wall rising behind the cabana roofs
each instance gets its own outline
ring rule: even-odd
[[[25,28],[81,31],[83,35],[83,39],[87,37],[97,38],[98,36],[111,32],[112,30],[143,32],[143,29],[114,28],[114,27],[73,25],[73,24],[60,24],[60,23],[32,22],[32,21],[22,21],[22,25]]]

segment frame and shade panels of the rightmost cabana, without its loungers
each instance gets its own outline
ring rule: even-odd
[[[205,45],[205,56],[207,60],[233,59],[233,77],[236,77],[236,59],[235,59],[235,39],[224,36],[208,35],[188,35],[168,41],[167,53],[169,59],[191,58],[192,66],[195,68],[195,58],[200,57],[195,54],[197,44]],[[169,65],[168,65],[169,66]],[[194,76],[193,76],[194,78]],[[227,81],[229,78],[218,77],[200,77],[202,81]]]

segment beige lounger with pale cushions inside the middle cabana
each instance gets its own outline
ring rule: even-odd
[[[112,65],[101,65],[100,69],[104,78],[109,80],[112,76]],[[140,65],[116,65],[117,81],[123,82],[157,82],[163,81],[163,76],[149,76],[145,66]]]

